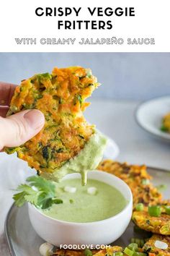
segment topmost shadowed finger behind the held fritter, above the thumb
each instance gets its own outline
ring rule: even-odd
[[[9,106],[12,95],[17,85],[12,85],[6,82],[0,82],[0,105]]]

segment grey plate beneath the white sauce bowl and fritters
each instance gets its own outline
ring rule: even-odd
[[[165,184],[167,186],[164,192],[164,198],[168,199],[170,195],[169,172],[151,167],[148,168],[148,172],[153,176],[153,184]],[[22,208],[12,205],[6,217],[5,233],[12,256],[40,256],[39,247],[44,241],[32,229],[28,217],[27,205]],[[140,233],[134,234],[133,223],[131,222],[125,233],[114,244],[124,247],[130,243],[132,237],[140,238],[141,235],[143,236]]]

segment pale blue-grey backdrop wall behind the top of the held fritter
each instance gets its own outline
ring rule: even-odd
[[[90,67],[102,86],[92,98],[146,101],[170,95],[170,53],[0,53],[0,81],[19,84],[53,67]]]

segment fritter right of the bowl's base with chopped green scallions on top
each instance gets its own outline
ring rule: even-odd
[[[166,213],[161,213],[161,216],[151,216],[145,210],[133,212],[133,222],[140,228],[146,231],[151,231],[156,234],[170,235],[170,216]]]

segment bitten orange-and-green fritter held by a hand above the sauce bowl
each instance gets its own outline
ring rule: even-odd
[[[15,90],[8,116],[37,108],[45,115],[45,126],[24,145],[6,148],[6,153],[17,151],[18,157],[40,174],[58,170],[94,134],[94,126],[86,122],[83,111],[89,106],[85,99],[98,85],[91,70],[83,67],[56,67],[52,74],[35,74],[22,80]]]

